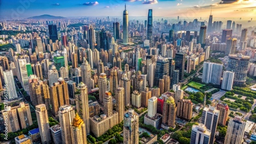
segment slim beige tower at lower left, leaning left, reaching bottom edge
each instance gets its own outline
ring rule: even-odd
[[[36,119],[40,132],[41,142],[43,144],[51,143],[50,126],[48,114],[45,104],[40,104],[35,107]]]

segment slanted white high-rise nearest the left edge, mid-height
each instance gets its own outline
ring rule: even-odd
[[[7,88],[8,98],[9,99],[18,98],[17,91],[15,88],[14,79],[13,79],[12,70],[4,71],[4,79],[5,79],[5,84],[8,86],[8,88]]]

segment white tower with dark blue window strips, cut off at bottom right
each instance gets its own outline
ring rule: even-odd
[[[210,142],[210,130],[204,124],[193,125],[190,144],[208,144]]]

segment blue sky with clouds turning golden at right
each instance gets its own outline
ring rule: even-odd
[[[256,0],[0,0],[0,18],[122,16],[124,4],[129,16],[256,18]]]

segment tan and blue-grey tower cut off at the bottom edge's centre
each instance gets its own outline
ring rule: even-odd
[[[139,115],[133,109],[123,116],[123,143],[139,143]]]

